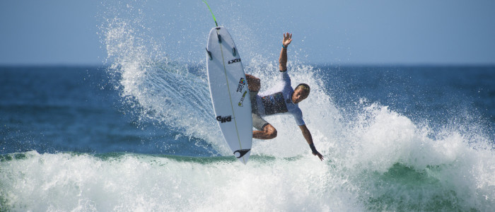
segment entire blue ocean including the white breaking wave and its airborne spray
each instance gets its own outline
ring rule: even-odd
[[[152,4],[101,4],[101,64],[0,66],[0,211],[495,211],[495,66],[313,63],[294,35],[289,75],[311,86],[299,107],[325,160],[276,115],[243,165],[209,97],[209,11]],[[229,6],[219,22],[267,92],[279,20]]]

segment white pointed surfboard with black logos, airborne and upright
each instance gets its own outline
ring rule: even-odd
[[[251,100],[243,64],[226,28],[211,29],[206,52],[215,120],[235,158],[246,164],[252,144]]]

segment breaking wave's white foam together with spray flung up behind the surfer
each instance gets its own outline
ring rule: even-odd
[[[156,20],[150,18],[155,13],[149,12],[148,4],[105,5],[101,28],[108,52],[105,71],[118,91],[120,110],[138,122],[164,126],[163,130],[173,131],[175,136],[197,139],[197,146],[211,155],[7,153],[0,158],[1,209],[495,210],[494,134],[489,118],[478,122],[477,112],[462,110],[448,98],[441,104],[450,108],[451,117],[424,115],[407,106],[430,104],[427,98],[419,103],[412,98],[409,84],[387,87],[383,86],[387,81],[375,81],[369,87],[359,87],[356,78],[338,67],[303,63],[298,59],[301,51],[291,47],[289,75],[293,86],[311,86],[311,94],[299,106],[325,160],[320,162],[310,153],[291,116],[279,115],[266,118],[279,131],[276,139],[254,139],[248,165],[238,163],[214,119],[204,67],[206,54],[177,56],[185,55],[177,52],[180,47],[150,28]],[[279,47],[261,51],[247,47],[252,36],[239,33],[239,29],[249,32],[252,28],[241,20],[232,21],[240,26],[226,25],[232,25],[228,30],[232,29],[240,47],[245,72],[261,78],[261,93],[268,93],[278,83]],[[168,26],[177,27],[172,22]],[[197,51],[203,51],[208,31],[190,40],[198,42]],[[279,42],[279,37],[274,39]],[[408,72],[397,74],[408,77]],[[335,76],[342,76],[342,81],[332,78]],[[345,86],[346,81],[356,85]],[[392,99],[388,105],[366,95],[373,86],[375,93],[390,89],[403,93],[388,95]]]

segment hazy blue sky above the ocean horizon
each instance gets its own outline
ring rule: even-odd
[[[308,63],[495,64],[495,1],[209,1],[241,55],[276,59],[281,35]],[[202,1],[1,1],[0,64],[101,65],[112,18],[148,29],[170,59],[204,59]],[[100,28],[103,26],[103,28]],[[243,52],[244,50],[244,52]],[[294,53],[295,54],[295,53]]]

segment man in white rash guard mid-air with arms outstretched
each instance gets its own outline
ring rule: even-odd
[[[280,78],[284,83],[281,90],[270,95],[260,96],[258,95],[261,87],[260,78],[246,74],[251,98],[252,125],[257,129],[252,131],[252,137],[255,139],[274,139],[277,133],[275,127],[262,117],[272,114],[292,114],[303,133],[304,139],[308,142],[311,151],[313,151],[313,155],[317,155],[320,160],[323,160],[323,155],[315,148],[313,137],[304,123],[303,112],[298,106],[299,102],[308,98],[310,87],[305,83],[301,83],[296,86],[296,89],[293,89],[291,87],[291,78],[287,73],[287,47],[291,42],[292,34],[284,34],[279,58]]]

